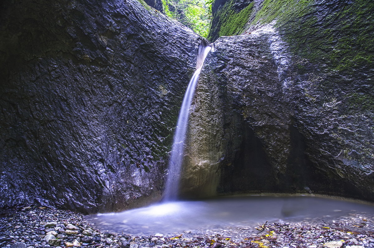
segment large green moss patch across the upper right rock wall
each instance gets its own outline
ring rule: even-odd
[[[264,0],[251,25],[276,20],[294,55],[314,63],[323,60],[332,71],[374,68],[374,2],[335,7],[324,15],[315,10],[314,0]]]

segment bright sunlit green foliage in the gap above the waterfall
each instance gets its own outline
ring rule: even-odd
[[[207,37],[211,20],[211,1],[162,0],[165,15],[176,19],[202,37]]]

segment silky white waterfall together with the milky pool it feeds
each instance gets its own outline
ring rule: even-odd
[[[183,150],[191,100],[211,46],[200,44],[196,72],[188,84],[179,113],[163,202],[122,213],[88,216],[101,230],[131,235],[154,235],[197,229],[248,227],[264,221],[339,218],[352,211],[374,214],[373,205],[315,196],[232,196],[205,201],[175,201],[178,197]]]

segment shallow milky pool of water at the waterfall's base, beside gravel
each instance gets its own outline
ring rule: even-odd
[[[175,201],[121,213],[88,216],[101,230],[131,235],[171,235],[188,230],[248,227],[269,222],[374,215],[374,206],[317,196],[231,196],[205,201]]]

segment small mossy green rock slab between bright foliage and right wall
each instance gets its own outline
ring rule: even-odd
[[[212,23],[215,23],[209,32],[208,39],[215,40],[221,36],[238,35],[244,31],[249,16],[253,11],[254,3],[250,3],[244,9],[237,11],[233,7],[234,0],[230,0],[215,13]],[[214,30],[214,32],[212,32]]]

